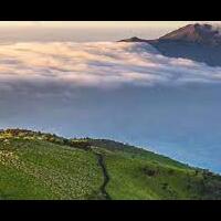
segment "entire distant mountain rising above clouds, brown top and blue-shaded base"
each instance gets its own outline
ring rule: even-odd
[[[161,54],[221,66],[221,34],[210,24],[188,24],[157,40],[131,38],[123,42],[147,42]]]

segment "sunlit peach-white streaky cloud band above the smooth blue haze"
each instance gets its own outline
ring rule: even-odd
[[[13,43],[0,48],[0,90],[115,88],[221,83],[221,67],[159,54],[144,43]]]

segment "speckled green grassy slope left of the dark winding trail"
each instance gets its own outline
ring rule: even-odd
[[[44,140],[0,143],[2,199],[90,199],[103,173],[91,151]]]

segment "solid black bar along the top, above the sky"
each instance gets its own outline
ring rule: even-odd
[[[193,1],[2,1],[2,21],[220,21],[217,3]]]

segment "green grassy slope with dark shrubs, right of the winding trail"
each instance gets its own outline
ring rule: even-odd
[[[109,140],[103,147],[112,199],[221,199],[221,177]]]

